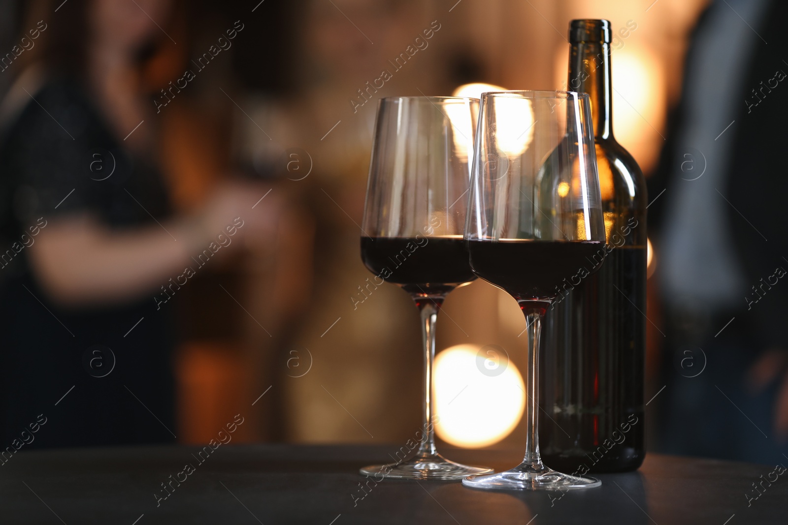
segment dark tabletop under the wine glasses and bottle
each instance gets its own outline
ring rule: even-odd
[[[362,492],[358,469],[396,449],[225,445],[202,463],[188,446],[20,451],[0,467],[0,523],[788,523],[788,472],[770,484],[774,465],[656,454],[637,472],[599,475],[599,488],[563,496],[400,480],[370,481]],[[496,470],[518,458],[444,455]],[[756,499],[753,482],[763,487]]]

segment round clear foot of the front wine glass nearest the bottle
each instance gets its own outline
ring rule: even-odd
[[[596,478],[578,478],[561,474],[542,464],[520,464],[498,474],[474,475],[463,479],[463,485],[487,490],[579,490],[600,486]]]

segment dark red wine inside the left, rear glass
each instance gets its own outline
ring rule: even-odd
[[[476,279],[461,235],[362,237],[366,268],[411,294],[448,294]]]

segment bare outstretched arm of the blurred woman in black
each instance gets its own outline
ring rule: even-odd
[[[235,250],[243,238],[270,235],[276,223],[276,202],[252,209],[262,189],[232,187],[217,193],[203,213],[128,231],[111,231],[87,214],[49,221],[30,247],[29,257],[39,283],[62,305],[101,305],[156,294],[194,267],[211,242],[223,252]],[[240,217],[242,227],[226,231]]]

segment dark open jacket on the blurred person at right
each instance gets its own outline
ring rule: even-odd
[[[728,9],[721,2],[712,2],[701,15],[695,31],[708,24],[712,9]],[[745,297],[757,298],[752,289],[742,296],[741,308],[730,312],[736,323],[745,326],[753,337],[752,349],[788,348],[788,287],[769,286],[777,268],[788,270],[788,236],[785,235],[784,198],[788,194],[788,177],[785,176],[785,150],[788,140],[788,98],[780,91],[788,76],[788,41],[784,38],[784,22],[788,17],[788,3],[772,0],[764,16],[763,27],[757,28],[756,46],[749,57],[745,82],[739,91],[738,114],[727,133],[733,134],[725,184],[719,192],[730,202],[723,205],[726,213],[727,235],[734,239],[739,261],[745,271],[749,287],[763,286],[765,294],[758,301],[757,309],[747,309]],[[768,44],[767,44],[768,43]],[[688,55],[692,53],[695,39],[691,39]],[[777,75],[777,73],[780,73]],[[685,75],[685,84],[686,84]],[[768,82],[778,81],[775,89]],[[722,80],[721,80],[722,81]],[[764,88],[764,86],[767,86]],[[757,108],[749,104],[758,102],[753,90],[764,89],[765,96]],[[686,93],[686,86],[682,90]],[[759,91],[760,94],[760,91]],[[750,102],[752,101],[752,102]],[[660,156],[660,164],[649,178],[649,195],[671,191],[678,183],[675,159],[678,148],[678,130],[686,126],[688,101],[682,97],[668,120],[667,142]],[[649,235],[659,242],[660,227],[664,222],[667,198],[656,199],[649,206]],[[763,281],[761,281],[763,279]],[[766,284],[764,284],[766,283]],[[715,329],[719,330],[719,327]]]

